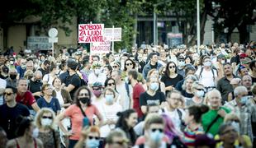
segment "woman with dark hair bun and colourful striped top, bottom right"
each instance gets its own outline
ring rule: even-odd
[[[184,122],[187,127],[184,130],[183,141],[188,147],[195,146],[196,136],[204,134],[201,126],[201,115],[209,110],[208,106],[202,104],[201,106],[192,105],[186,109]]]

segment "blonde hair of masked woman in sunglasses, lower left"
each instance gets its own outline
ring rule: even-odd
[[[42,108],[38,113],[36,113],[36,118],[35,118],[36,127],[38,128],[42,127],[41,118],[43,117],[44,113],[51,113],[53,122],[51,123],[50,128],[54,130],[55,129],[55,112],[52,109],[48,109],[48,108]]]

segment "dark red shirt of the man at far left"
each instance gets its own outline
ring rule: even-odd
[[[32,95],[31,91],[28,91],[28,90],[22,96],[19,93],[17,93],[16,101],[26,106],[31,106],[32,104],[36,103],[36,99]]]

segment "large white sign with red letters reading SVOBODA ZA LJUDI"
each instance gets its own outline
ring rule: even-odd
[[[103,42],[104,24],[79,24],[78,43]]]

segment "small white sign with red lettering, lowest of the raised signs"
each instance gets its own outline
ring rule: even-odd
[[[90,53],[98,54],[98,53],[109,53],[111,49],[111,42],[100,42],[100,43],[92,43],[92,47]]]

